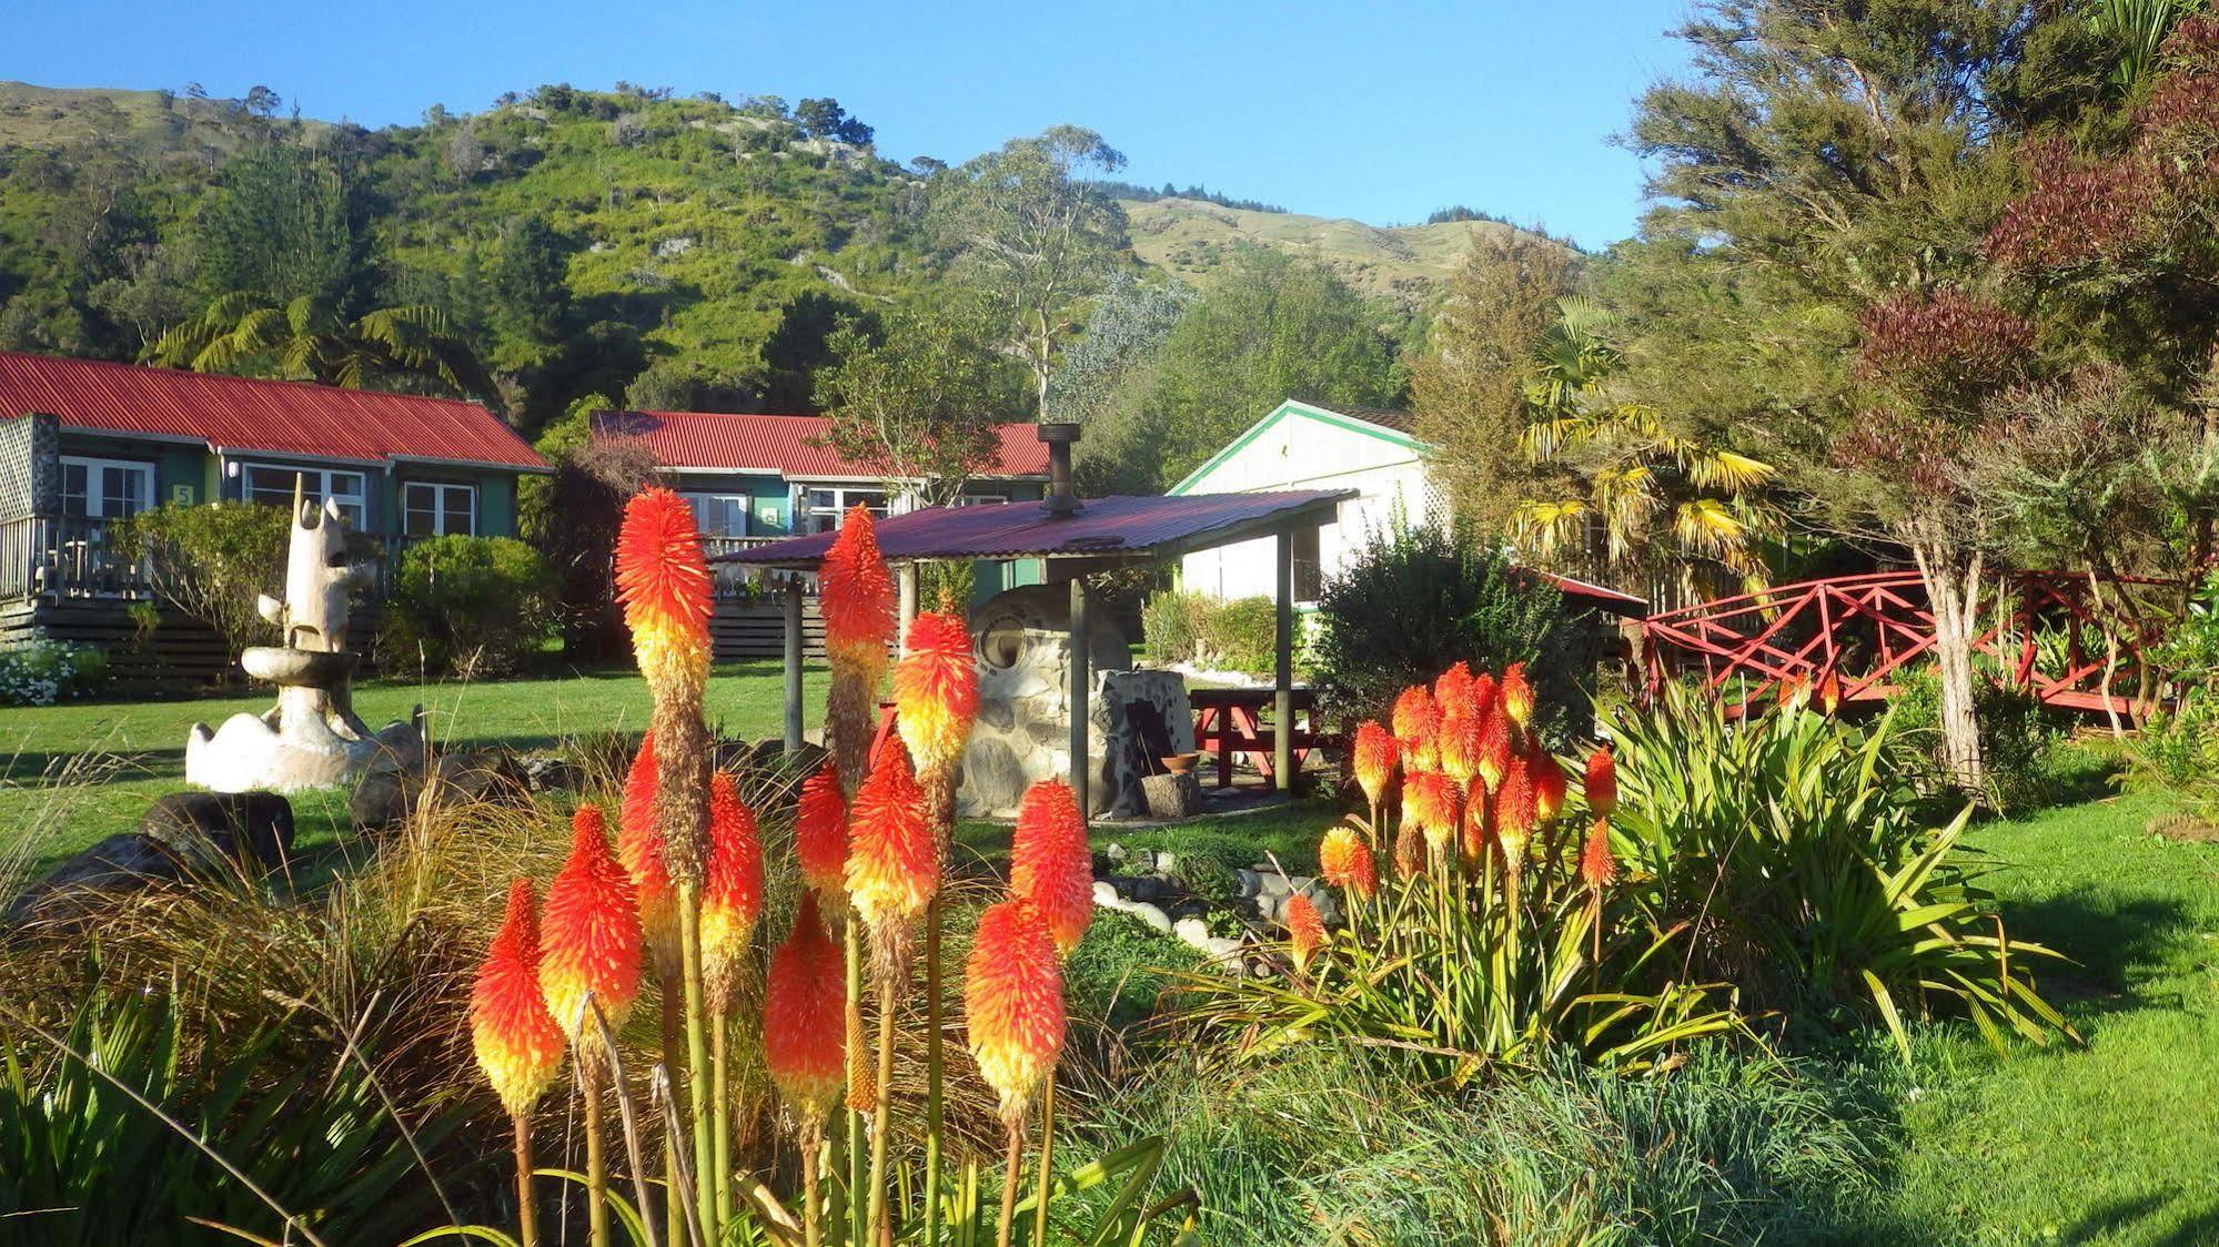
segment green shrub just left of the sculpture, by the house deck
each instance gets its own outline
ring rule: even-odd
[[[224,639],[229,652],[277,639],[255,599],[284,588],[293,517],[284,506],[164,504],[113,528],[115,550],[144,559],[153,590]]]

